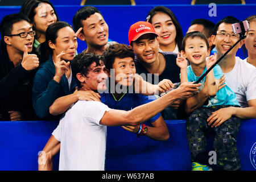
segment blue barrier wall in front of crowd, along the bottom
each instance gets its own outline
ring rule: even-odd
[[[37,170],[38,152],[58,123],[0,122],[0,170]],[[170,132],[170,139],[166,142],[138,138],[121,127],[108,127],[106,170],[191,170],[185,121],[166,123]],[[256,170],[255,129],[256,119],[242,121],[237,136],[242,170]],[[209,150],[212,150],[212,142],[210,136]],[[55,170],[58,162],[59,155],[54,161]]]

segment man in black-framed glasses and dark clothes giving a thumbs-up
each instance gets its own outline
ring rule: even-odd
[[[32,51],[35,31],[26,16],[7,15],[0,24],[0,121],[35,119],[31,86],[38,57]]]

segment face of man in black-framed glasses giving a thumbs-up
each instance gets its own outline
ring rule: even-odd
[[[13,24],[13,30],[11,35],[20,34],[21,32],[32,31],[32,24],[25,20]],[[20,38],[20,36],[5,36],[5,42],[7,45],[11,46],[15,52],[23,53],[24,46],[27,47],[27,51],[32,51],[32,44],[34,42],[34,36],[27,35],[26,38]]]

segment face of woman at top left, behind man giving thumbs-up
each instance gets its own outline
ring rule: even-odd
[[[45,34],[47,27],[55,23],[57,16],[51,5],[47,3],[40,3],[35,9],[34,27],[37,32]]]

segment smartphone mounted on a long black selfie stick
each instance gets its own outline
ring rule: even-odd
[[[213,69],[213,67],[215,67],[216,64],[218,64],[218,62],[220,62],[220,61],[223,59],[223,57],[225,57],[241,40],[243,40],[243,39],[246,38],[245,32],[249,30],[249,23],[248,23],[247,20],[245,20],[245,21],[243,21],[243,22],[241,21],[241,22],[239,22],[239,23],[234,23],[234,24],[232,24],[232,28],[233,28],[234,34],[239,34],[239,35],[240,35],[240,39],[239,39],[232,47],[230,47],[230,48],[228,49],[228,51],[226,51],[226,52],[224,53],[224,55],[222,55],[222,56],[220,57],[220,59],[218,59],[218,60],[216,61],[216,63],[214,63],[214,64],[212,65],[212,67],[210,67],[210,68],[204,73],[204,75],[202,75],[202,76],[195,82],[195,84],[198,84],[201,80],[203,80],[203,78]]]

